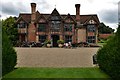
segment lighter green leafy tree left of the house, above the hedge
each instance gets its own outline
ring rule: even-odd
[[[16,17],[9,17],[2,21],[2,27],[5,29],[8,38],[11,40],[13,45],[15,45],[18,40],[18,31],[15,19]]]

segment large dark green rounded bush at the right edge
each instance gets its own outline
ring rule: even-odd
[[[120,26],[114,37],[98,51],[98,64],[115,80],[120,78]]]

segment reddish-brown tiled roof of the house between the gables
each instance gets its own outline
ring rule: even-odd
[[[36,19],[40,15],[43,15],[46,19],[48,19],[51,14],[39,13],[39,11],[36,11],[36,16],[37,16]],[[67,14],[61,14],[60,16],[64,20],[67,17]],[[76,16],[75,15],[70,15],[70,16],[76,21],[76,19],[75,19]],[[19,17],[22,17],[22,19],[24,19],[28,23],[31,21],[31,14],[27,14],[27,13],[25,13],[25,14],[22,13],[21,14],[20,13]],[[81,22],[81,24],[84,24],[91,17],[93,17],[97,21],[97,23],[99,23],[99,19],[98,19],[97,15],[96,14],[90,14],[90,15],[80,15],[80,22]]]

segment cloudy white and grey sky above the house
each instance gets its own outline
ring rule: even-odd
[[[81,4],[80,14],[97,14],[100,22],[113,29],[118,24],[118,2],[120,0],[0,0],[0,17],[19,16],[31,13],[30,3],[37,4],[40,13],[51,13],[54,8],[60,14],[76,14],[75,4]]]

